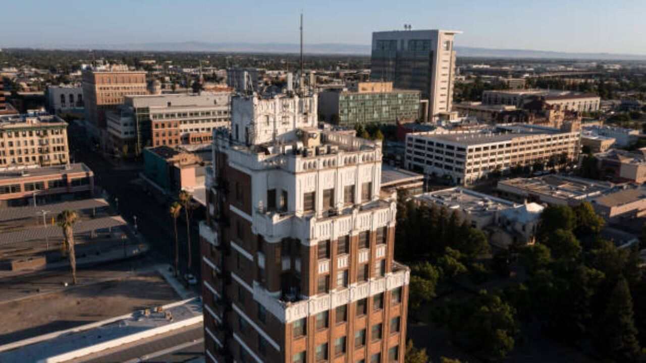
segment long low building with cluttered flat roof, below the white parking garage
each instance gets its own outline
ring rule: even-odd
[[[614,186],[609,182],[548,174],[536,178],[501,180],[496,189],[499,196],[517,203],[536,202],[574,207],[609,192]]]

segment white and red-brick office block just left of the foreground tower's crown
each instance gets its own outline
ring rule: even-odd
[[[138,155],[149,146],[210,143],[211,130],[229,127],[230,103],[229,92],[126,96],[109,116],[112,145],[127,143]]]

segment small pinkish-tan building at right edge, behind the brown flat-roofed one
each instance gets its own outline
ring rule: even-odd
[[[599,171],[606,178],[618,182],[646,182],[646,150],[630,152],[627,150],[610,149],[594,154],[598,160]]]

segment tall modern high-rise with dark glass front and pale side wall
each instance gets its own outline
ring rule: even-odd
[[[423,114],[435,120],[450,112],[455,82],[453,38],[462,32],[404,30],[373,32],[370,58],[373,81],[393,81],[394,86],[421,92],[428,99]]]

